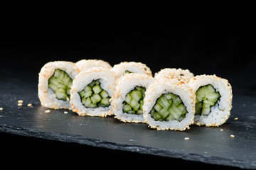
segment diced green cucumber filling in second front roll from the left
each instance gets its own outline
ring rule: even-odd
[[[102,89],[99,79],[92,80],[90,84],[78,92],[82,104],[86,108],[108,107],[110,106],[110,95]]]

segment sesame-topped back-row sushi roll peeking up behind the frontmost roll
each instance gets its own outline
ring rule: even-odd
[[[155,79],[178,79],[188,83],[192,79],[193,73],[189,72],[188,69],[161,69],[154,76]]]

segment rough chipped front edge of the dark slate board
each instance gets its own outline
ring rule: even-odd
[[[27,137],[38,137],[46,140],[57,140],[60,142],[75,142],[81,145],[90,145],[92,147],[104,147],[107,149],[118,149],[129,152],[137,152],[140,154],[153,154],[161,157],[171,157],[176,159],[184,159],[188,161],[203,162],[206,164],[218,164],[224,166],[235,166],[243,169],[256,169],[255,162],[246,162],[237,159],[223,159],[220,157],[212,157],[201,154],[180,153],[168,149],[156,149],[153,147],[144,147],[141,145],[127,145],[123,143],[107,142],[105,140],[96,140],[90,137],[82,137],[80,135],[70,135],[58,132],[41,132],[28,128],[21,128],[6,124],[0,124],[0,132],[6,132],[14,135],[22,135]]]

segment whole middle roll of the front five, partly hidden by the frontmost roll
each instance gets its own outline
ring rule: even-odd
[[[142,73],[124,74],[117,79],[112,96],[114,118],[122,122],[144,123],[143,104],[145,91],[154,81]]]

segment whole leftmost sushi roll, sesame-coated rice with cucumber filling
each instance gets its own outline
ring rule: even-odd
[[[48,62],[38,79],[38,97],[46,108],[68,108],[70,104],[70,86],[78,75],[79,69],[73,62]]]

